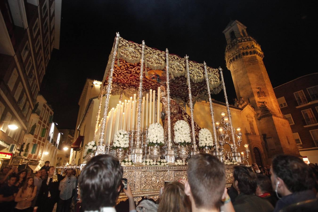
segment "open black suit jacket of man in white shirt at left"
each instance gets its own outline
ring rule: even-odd
[[[38,206],[39,208],[42,208],[42,203],[44,203],[45,200],[48,199],[49,191],[54,202],[57,202],[59,200],[59,181],[52,182],[51,178],[48,185],[46,185],[46,181],[47,178],[42,181],[41,188],[38,193],[38,199],[35,203],[35,206]]]

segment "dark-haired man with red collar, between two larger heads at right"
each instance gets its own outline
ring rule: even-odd
[[[257,174],[257,187],[255,194],[270,202],[275,207],[277,197],[273,194],[272,182],[266,175]]]

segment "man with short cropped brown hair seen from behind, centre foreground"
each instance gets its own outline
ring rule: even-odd
[[[190,198],[192,212],[220,211],[221,200],[228,195],[225,188],[225,167],[218,158],[202,153],[192,156],[188,162],[187,174],[184,192]],[[229,197],[224,203],[232,207]]]

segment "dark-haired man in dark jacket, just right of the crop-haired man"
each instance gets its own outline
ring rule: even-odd
[[[258,211],[270,212],[274,207],[266,200],[255,195],[256,174],[246,166],[235,166],[233,171],[233,187],[239,195],[233,203],[236,212]]]

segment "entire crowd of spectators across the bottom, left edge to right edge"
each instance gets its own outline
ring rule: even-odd
[[[200,153],[188,161],[187,180],[165,183],[158,201],[144,199],[137,206],[129,181],[124,188],[121,164],[111,155],[93,157],[79,179],[75,170],[68,169],[65,177],[58,175],[53,182],[54,170],[48,162],[32,177],[26,170],[3,168],[0,209],[51,212],[57,203],[58,212],[115,212],[119,194],[124,192],[130,212],[318,211],[318,167],[291,155],[274,157],[266,168],[235,166],[232,186],[227,189],[225,165],[211,154]],[[81,191],[77,198],[78,183]]]

